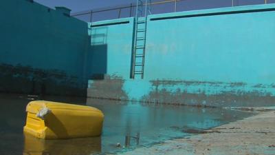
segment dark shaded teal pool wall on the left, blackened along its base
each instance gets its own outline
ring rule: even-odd
[[[87,92],[87,23],[32,1],[1,1],[0,92]]]

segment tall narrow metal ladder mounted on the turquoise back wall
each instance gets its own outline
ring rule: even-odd
[[[147,2],[150,6],[147,6]],[[144,8],[144,14],[143,12]],[[135,37],[133,44],[133,61],[131,78],[135,79],[144,77],[144,60],[145,60],[145,44],[146,44],[146,28],[147,28],[147,12],[151,14],[151,0],[137,0],[137,9],[135,12]]]

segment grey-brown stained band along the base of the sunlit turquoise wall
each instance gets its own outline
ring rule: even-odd
[[[275,88],[248,83],[107,79],[89,81],[88,97],[207,107],[274,105]],[[127,89],[125,89],[127,87]],[[132,89],[129,90],[129,87]],[[131,93],[134,91],[135,93]],[[100,94],[98,94],[100,92]],[[118,94],[116,93],[118,92]],[[111,97],[110,97],[111,96]]]

